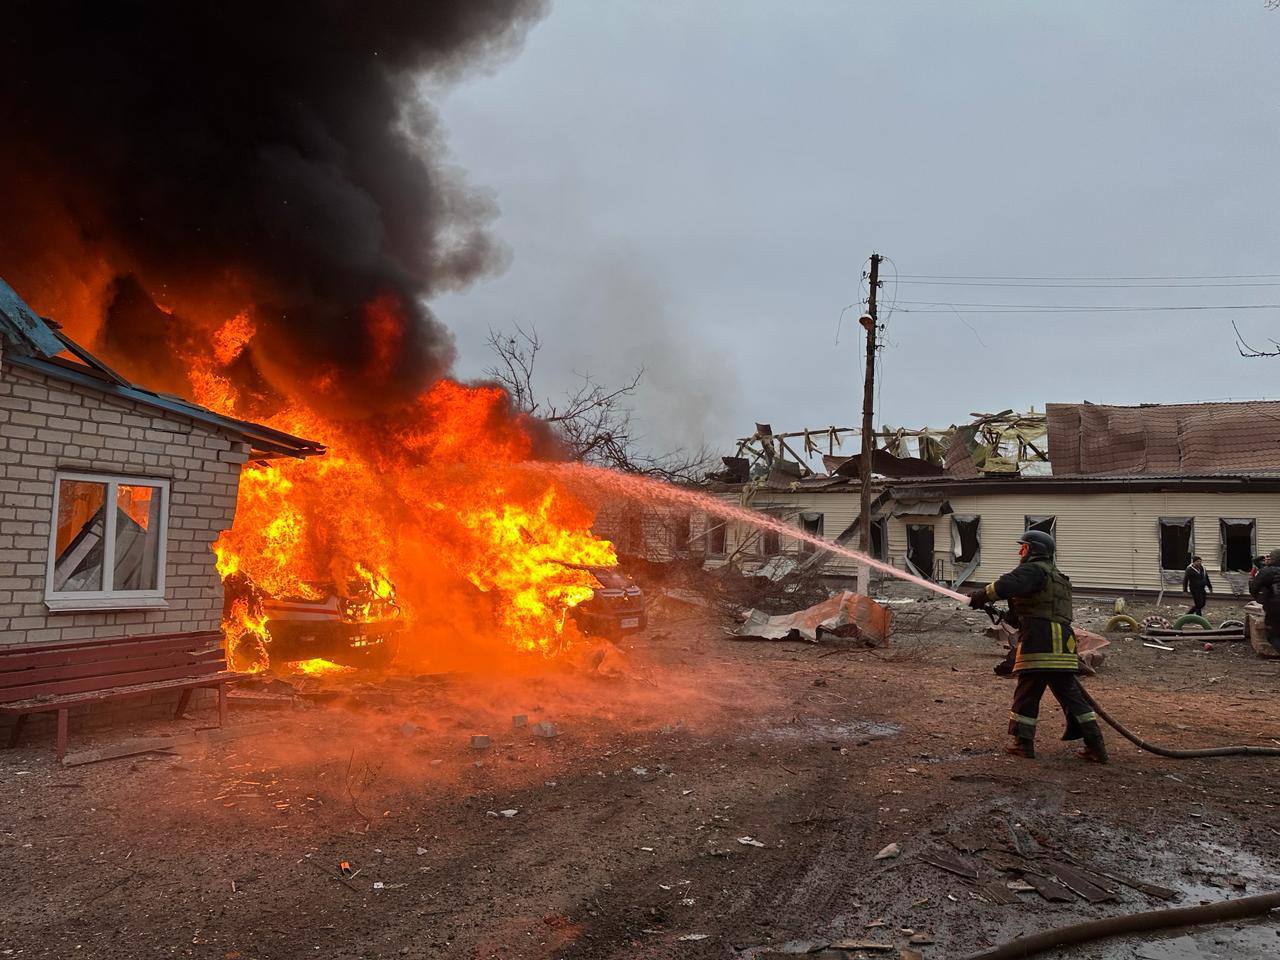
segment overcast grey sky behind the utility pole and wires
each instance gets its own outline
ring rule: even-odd
[[[723,444],[756,420],[856,424],[860,310],[838,346],[836,325],[865,297],[872,250],[892,259],[882,302],[899,305],[882,311],[877,424],[1276,397],[1280,358],[1240,358],[1230,321],[1280,339],[1280,308],[904,301],[1280,303],[1280,285],[893,275],[1280,274],[1277,41],[1263,0],[557,0],[513,59],[438,101],[512,261],[434,306],[465,376],[490,362],[488,328],[515,321],[543,335],[549,390],[644,365],[654,447]]]

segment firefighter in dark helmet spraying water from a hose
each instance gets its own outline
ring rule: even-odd
[[[1097,714],[1075,678],[1080,658],[1071,630],[1071,581],[1053,563],[1056,544],[1041,530],[1028,530],[1019,540],[1019,564],[1000,580],[969,594],[969,605],[980,609],[1009,600],[1010,623],[1018,627],[1012,671],[1018,676],[1005,753],[1036,758],[1036,723],[1044,690],[1052,690],[1066,714],[1062,740],[1084,740],[1080,759],[1106,763],[1107,749]]]

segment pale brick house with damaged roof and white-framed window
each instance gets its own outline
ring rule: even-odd
[[[0,280],[0,644],[216,630],[241,466],[323,452],[127,381]]]

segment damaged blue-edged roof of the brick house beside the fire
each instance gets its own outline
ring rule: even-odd
[[[303,458],[325,452],[324,444],[315,440],[305,440],[262,424],[224,416],[182,397],[156,393],[129,383],[64,334],[56,323],[36,314],[3,279],[0,279],[0,340],[4,342],[4,355],[0,357],[4,364],[141,403],[165,413],[177,413],[234,434],[250,444],[251,453],[256,458]],[[81,362],[61,357],[60,353],[72,353]]]

